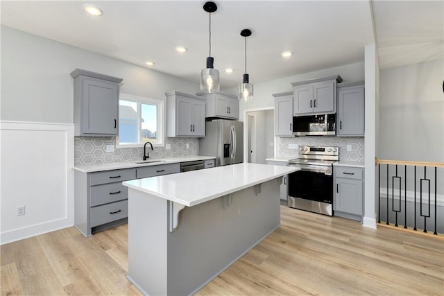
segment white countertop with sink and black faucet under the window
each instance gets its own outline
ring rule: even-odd
[[[158,166],[159,164],[177,164],[178,162],[194,162],[196,160],[207,160],[214,159],[215,157],[211,156],[187,156],[187,157],[173,157],[173,158],[161,158],[161,159],[153,159],[149,160],[160,160],[160,162],[146,162],[144,164],[136,164],[135,162],[142,162],[142,159],[135,160],[132,162],[113,162],[110,164],[88,164],[83,166],[74,166],[74,170],[80,171],[83,173],[93,173],[100,171],[112,171],[119,170],[121,168],[139,168],[142,166]]]

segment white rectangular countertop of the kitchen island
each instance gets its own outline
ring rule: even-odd
[[[292,166],[232,164],[187,173],[130,180],[123,182],[123,185],[192,207],[298,170],[299,168]]]

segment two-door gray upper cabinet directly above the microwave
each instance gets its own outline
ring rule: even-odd
[[[336,112],[336,83],[341,76],[293,82],[293,115]]]

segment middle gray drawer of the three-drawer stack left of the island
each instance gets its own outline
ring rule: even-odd
[[[121,182],[91,186],[89,190],[91,207],[128,198],[128,187],[123,186]]]

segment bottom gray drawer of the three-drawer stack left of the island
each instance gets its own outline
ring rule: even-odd
[[[104,204],[99,207],[92,207],[90,211],[91,227],[110,223],[128,217],[128,200],[113,202],[112,204]]]

